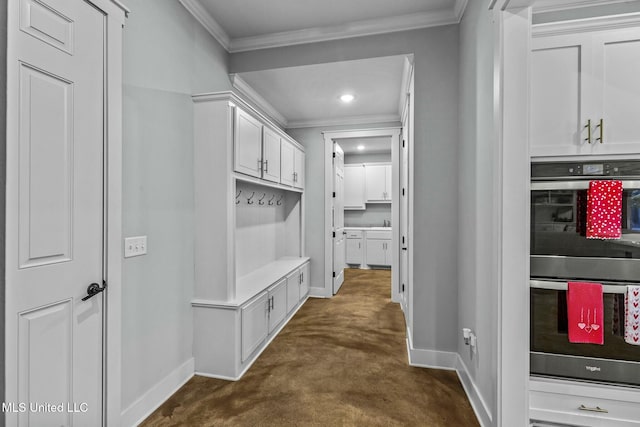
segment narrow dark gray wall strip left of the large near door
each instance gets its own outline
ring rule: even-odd
[[[0,3],[0,402],[4,402],[4,261],[5,261],[5,203],[6,203],[6,152],[7,152],[7,2]],[[0,417],[0,427],[4,417]]]

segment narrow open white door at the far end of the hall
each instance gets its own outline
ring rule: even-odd
[[[346,239],[344,231],[344,151],[333,147],[333,294],[344,282]]]

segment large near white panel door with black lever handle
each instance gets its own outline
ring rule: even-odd
[[[81,0],[8,13],[5,401],[26,410],[5,420],[99,426],[104,293],[82,298],[104,274],[105,18]]]

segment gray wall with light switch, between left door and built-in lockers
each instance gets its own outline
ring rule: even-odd
[[[122,409],[192,355],[191,95],[230,89],[228,54],[175,0],[127,0],[123,232],[148,255],[124,261]]]

